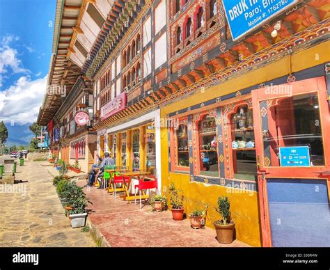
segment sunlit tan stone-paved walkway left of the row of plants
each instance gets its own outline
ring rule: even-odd
[[[88,232],[71,228],[47,167],[26,161],[15,179],[28,182],[14,184],[16,193],[0,185],[0,246],[95,246]]]

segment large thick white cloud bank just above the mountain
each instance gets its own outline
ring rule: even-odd
[[[14,125],[35,122],[46,85],[47,75],[36,80],[23,76],[8,89],[0,92],[0,120]]]

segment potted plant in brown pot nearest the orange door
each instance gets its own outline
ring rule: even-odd
[[[218,207],[216,211],[222,216],[222,219],[214,222],[214,228],[217,232],[217,239],[221,244],[230,244],[233,242],[235,222],[230,220],[230,202],[226,196],[218,198]]]

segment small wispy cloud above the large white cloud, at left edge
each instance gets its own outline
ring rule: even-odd
[[[0,87],[3,79],[7,77],[5,74],[8,74],[9,69],[14,74],[30,72],[22,66],[22,61],[17,58],[17,50],[10,47],[10,43],[17,40],[19,38],[15,35],[6,35],[0,42]]]

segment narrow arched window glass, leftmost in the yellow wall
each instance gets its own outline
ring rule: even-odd
[[[188,128],[187,125],[179,125],[176,130],[178,143],[178,166],[189,167],[189,146],[188,146]]]

